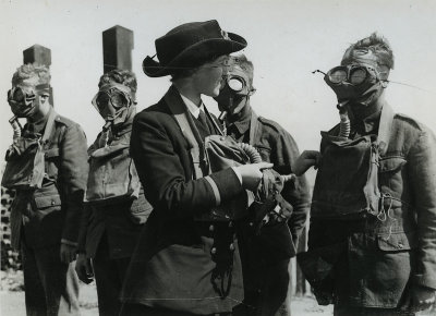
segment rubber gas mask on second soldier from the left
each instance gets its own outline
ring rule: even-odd
[[[110,83],[100,87],[93,99],[93,106],[101,118],[112,126],[120,125],[128,119],[132,106],[131,89],[124,85]]]

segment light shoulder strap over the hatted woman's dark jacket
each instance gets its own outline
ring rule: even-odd
[[[203,170],[201,168],[201,147],[197,137],[195,137],[192,125],[190,124],[190,116],[187,113],[186,107],[183,108],[183,104],[180,100],[174,100],[174,96],[167,93],[164,97],[167,106],[169,107],[172,116],[174,117],[180,130],[182,130],[182,134],[186,139],[187,144],[190,145],[190,154],[192,158],[192,162],[194,166],[194,179],[203,178]],[[195,127],[195,126],[194,126]],[[197,132],[197,131],[196,131]],[[198,134],[198,132],[197,132]],[[198,136],[199,137],[199,136]]]

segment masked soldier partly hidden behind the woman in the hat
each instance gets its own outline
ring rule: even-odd
[[[299,159],[299,148],[292,136],[278,123],[254,112],[250,105],[255,92],[253,63],[240,54],[230,57],[229,64],[221,90],[215,97],[228,135],[254,146],[262,160],[272,162],[278,173],[304,173],[315,165],[316,154],[305,151]],[[237,307],[238,315],[291,313],[288,266],[290,257],[296,253],[308,212],[310,193],[304,175],[286,183],[281,196],[290,206],[279,210],[280,217],[271,218],[257,234],[241,230],[245,300]]]

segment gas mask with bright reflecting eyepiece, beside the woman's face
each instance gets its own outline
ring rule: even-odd
[[[239,113],[255,92],[255,88],[251,87],[249,74],[238,62],[238,58],[229,58],[229,71],[222,76],[222,87],[219,95],[214,98],[221,111],[219,118],[221,121],[225,120],[226,116]]]

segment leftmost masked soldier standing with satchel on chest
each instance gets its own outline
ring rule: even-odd
[[[2,185],[16,190],[11,239],[22,253],[27,315],[80,315],[73,262],[88,170],[86,137],[55,111],[49,96],[46,66],[25,64],[13,74],[8,102],[14,139]]]

